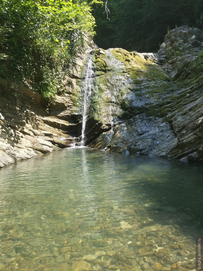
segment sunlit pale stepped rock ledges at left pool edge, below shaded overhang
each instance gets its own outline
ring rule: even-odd
[[[50,116],[25,96],[0,102],[0,167],[70,146],[70,123]]]

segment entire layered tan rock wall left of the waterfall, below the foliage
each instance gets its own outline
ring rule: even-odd
[[[13,89],[12,84],[0,80],[0,167],[79,141],[81,122],[72,112],[71,97],[83,60],[79,57],[72,65],[72,78],[64,79],[65,94],[57,96],[51,108],[32,89],[20,85]]]

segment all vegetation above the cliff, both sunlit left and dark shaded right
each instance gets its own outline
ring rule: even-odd
[[[167,29],[203,27],[202,0],[108,0],[108,16],[105,3],[0,0],[1,78],[12,88],[29,85],[53,102],[68,65],[84,47],[84,33],[96,31],[96,43],[104,49],[142,52],[157,50]]]

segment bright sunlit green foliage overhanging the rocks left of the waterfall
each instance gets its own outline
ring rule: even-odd
[[[90,11],[83,0],[1,0],[2,77],[31,84],[53,102],[83,34],[94,34]]]

